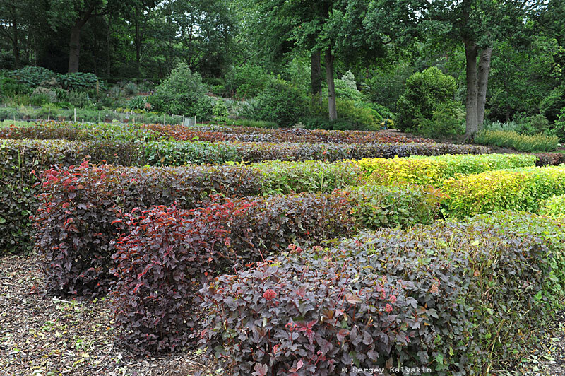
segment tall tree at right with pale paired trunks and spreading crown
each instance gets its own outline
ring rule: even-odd
[[[374,0],[367,21],[398,42],[407,41],[403,33],[408,31],[421,41],[435,40],[444,48],[455,43],[463,45],[465,137],[470,139],[484,120],[494,42],[522,33],[528,20],[544,6],[544,0]],[[390,25],[394,20],[400,28],[383,30],[381,25]]]

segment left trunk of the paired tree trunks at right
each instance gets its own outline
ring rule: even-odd
[[[465,141],[479,129],[477,88],[477,45],[465,42],[467,98],[465,100]]]

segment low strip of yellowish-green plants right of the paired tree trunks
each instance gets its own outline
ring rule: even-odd
[[[475,136],[475,143],[513,148],[517,151],[555,151],[559,145],[559,138],[544,134],[529,136],[514,131],[482,131]]]

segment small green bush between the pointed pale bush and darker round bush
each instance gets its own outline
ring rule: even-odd
[[[254,98],[275,81],[262,66],[234,66],[225,77],[225,90],[236,98]]]

